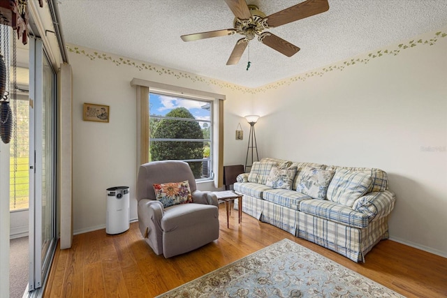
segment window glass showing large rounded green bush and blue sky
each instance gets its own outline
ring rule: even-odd
[[[149,93],[149,161],[189,163],[196,179],[212,179],[210,100]]]

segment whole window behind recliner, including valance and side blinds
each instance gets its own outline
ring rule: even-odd
[[[201,168],[200,171],[193,170],[197,180],[214,180],[214,187],[223,186],[225,96],[135,78],[131,85],[136,87],[137,99],[137,167],[148,161],[182,160]],[[177,114],[177,107],[186,110],[183,110],[183,116]],[[169,128],[161,129],[162,122],[166,126],[176,124],[185,128],[180,130],[182,133],[174,134]],[[193,135],[186,127],[191,130],[195,127],[197,135]],[[162,156],[156,149],[151,149],[158,146],[166,152],[175,146],[185,149],[186,144],[191,145],[191,150],[197,155],[177,153]],[[197,150],[192,149],[193,145]]]

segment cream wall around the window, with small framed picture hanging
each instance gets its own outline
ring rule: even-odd
[[[224,165],[245,161],[247,138],[235,140],[240,122],[248,135],[249,124],[242,117],[251,114],[251,94],[244,87],[217,82],[176,70],[163,72],[161,67],[139,70],[115,55],[110,59],[94,57],[94,50],[71,46],[68,52],[73,70],[73,218],[75,233],[105,227],[106,189],[130,186],[131,218],[137,218],[135,200],[136,167],[136,91],[131,87],[133,77],[174,84],[179,87],[226,94],[224,103]],[[83,52],[82,52],[83,51]],[[90,56],[87,57],[86,54]],[[138,66],[142,62],[135,61]],[[147,65],[147,63],[146,63]],[[179,77],[183,75],[183,77]],[[110,105],[110,122],[82,121],[82,104]],[[210,190],[210,184],[198,184]]]

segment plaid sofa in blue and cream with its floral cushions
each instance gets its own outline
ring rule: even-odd
[[[355,262],[389,237],[395,194],[379,169],[263,158],[234,189],[244,213]]]

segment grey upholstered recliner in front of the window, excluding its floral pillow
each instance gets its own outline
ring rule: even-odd
[[[188,180],[193,203],[167,208],[156,200],[153,184]],[[157,255],[170,258],[193,251],[219,238],[217,197],[198,191],[193,172],[184,161],[153,161],[140,165],[136,198],[138,223],[145,241]]]

